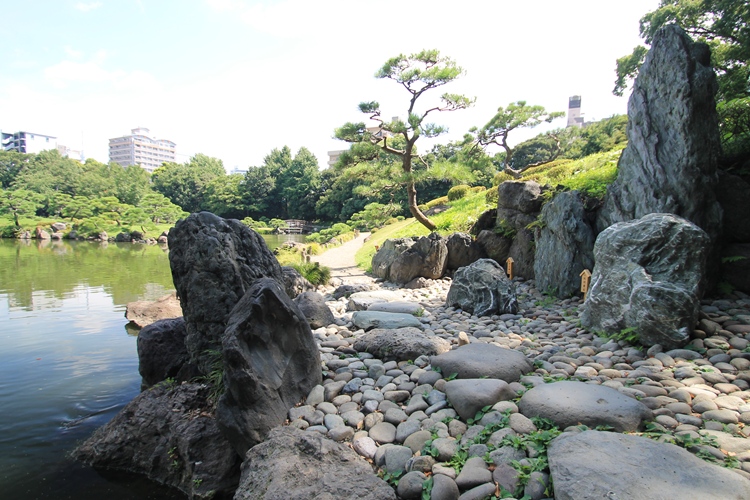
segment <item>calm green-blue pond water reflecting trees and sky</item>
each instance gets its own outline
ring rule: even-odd
[[[172,289],[158,246],[0,239],[0,498],[183,498],[67,458],[139,392],[126,304]]]

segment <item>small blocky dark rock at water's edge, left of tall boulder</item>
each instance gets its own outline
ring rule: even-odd
[[[173,378],[178,382],[190,378],[190,370],[180,371],[189,363],[185,347],[185,321],[182,318],[162,319],[138,332],[138,373],[143,385],[150,387]]]

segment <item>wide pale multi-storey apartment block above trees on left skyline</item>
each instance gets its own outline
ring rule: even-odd
[[[109,140],[109,161],[123,167],[140,165],[148,172],[153,172],[165,161],[175,161],[174,142],[149,137],[149,130],[144,127],[130,132],[130,135]]]

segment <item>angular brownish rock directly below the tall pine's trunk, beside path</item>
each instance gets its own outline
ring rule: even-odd
[[[442,278],[448,259],[448,247],[437,233],[422,236],[391,264],[388,279],[394,283],[408,283],[417,277]]]

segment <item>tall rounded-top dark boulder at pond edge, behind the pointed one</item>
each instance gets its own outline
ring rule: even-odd
[[[211,370],[229,313],[258,278],[282,282],[281,267],[263,238],[241,222],[194,213],[169,231],[169,264],[187,327],[190,359]]]

